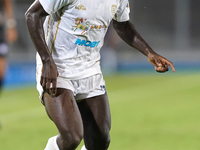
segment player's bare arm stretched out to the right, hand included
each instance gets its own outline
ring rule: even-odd
[[[168,71],[168,66],[175,72],[175,68],[169,60],[158,55],[152,48],[145,42],[145,40],[136,31],[134,25],[130,21],[117,22],[113,20],[113,27],[117,34],[131,47],[139,50],[148,60],[155,66],[157,72]]]

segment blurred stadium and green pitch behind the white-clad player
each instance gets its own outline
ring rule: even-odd
[[[13,1],[19,38],[10,45],[0,98],[0,150],[42,149],[57,131],[35,89],[36,51],[24,20],[33,0]],[[109,30],[101,63],[113,116],[110,150],[199,150],[200,1],[129,1],[138,32],[176,73],[156,73]]]

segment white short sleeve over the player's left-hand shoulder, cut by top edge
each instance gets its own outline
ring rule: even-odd
[[[77,0],[39,0],[40,4],[48,14],[55,13],[63,6],[75,3]]]

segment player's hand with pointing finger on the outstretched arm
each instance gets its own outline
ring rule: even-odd
[[[172,62],[167,60],[166,58],[154,53],[148,55],[148,60],[155,66],[155,70],[157,72],[163,73],[169,70],[168,66],[171,67],[172,71],[175,72],[174,65]]]

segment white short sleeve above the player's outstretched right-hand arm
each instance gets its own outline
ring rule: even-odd
[[[130,6],[128,0],[120,0],[120,5],[115,13],[114,20],[124,22],[129,20]]]

